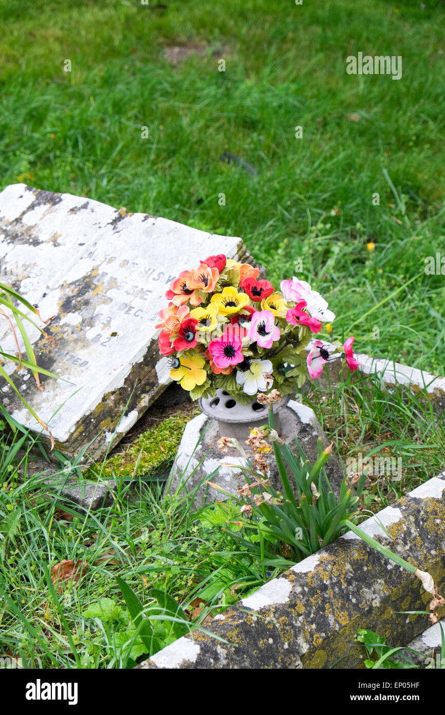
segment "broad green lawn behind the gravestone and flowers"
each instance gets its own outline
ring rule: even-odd
[[[443,373],[445,282],[424,260],[445,235],[444,15],[414,1],[13,0],[0,9],[1,184],[241,235],[274,281],[301,259],[336,336]],[[161,54],[186,44],[204,56]],[[401,55],[401,80],[346,74],[358,51]],[[221,163],[226,151],[259,174]]]

